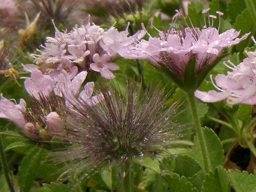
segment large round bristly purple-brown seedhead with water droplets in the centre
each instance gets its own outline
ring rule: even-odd
[[[167,108],[159,87],[143,93],[141,86],[127,83],[124,96],[109,84],[100,88],[104,100],[93,106],[73,100],[72,112],[61,116],[65,133],[52,133],[73,144],[53,154],[58,162],[72,160],[65,171],[85,176],[108,164],[155,157],[178,139],[182,127],[172,121],[177,103]]]

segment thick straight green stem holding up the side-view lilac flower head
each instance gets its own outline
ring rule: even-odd
[[[199,120],[198,113],[197,113],[197,105],[195,103],[194,92],[189,91],[189,92],[187,92],[187,94],[188,94],[188,99],[189,99],[190,107],[191,107],[192,114],[193,114],[195,130],[197,131],[197,137],[198,137],[198,141],[199,141],[199,145],[200,145],[200,149],[201,149],[201,153],[202,153],[202,157],[203,157],[204,169],[205,169],[206,173],[209,173],[210,172],[210,160],[209,160],[209,157],[207,157],[207,150],[206,150],[203,130],[201,128],[200,120]]]

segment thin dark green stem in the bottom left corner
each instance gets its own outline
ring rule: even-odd
[[[4,171],[4,176],[6,178],[8,186],[10,188],[10,191],[15,192],[12,180],[10,179],[10,175],[9,175],[9,170],[8,170],[8,166],[7,166],[6,157],[5,157],[5,154],[4,154],[4,148],[3,148],[3,142],[2,142],[2,136],[1,135],[0,135],[0,156],[1,156],[1,163],[2,163],[2,167],[3,167],[3,171]]]

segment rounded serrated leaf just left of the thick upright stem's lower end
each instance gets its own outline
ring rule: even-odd
[[[187,155],[179,155],[175,158],[175,169],[173,172],[180,176],[184,176],[186,178],[193,177],[201,170],[202,168],[197,161]]]

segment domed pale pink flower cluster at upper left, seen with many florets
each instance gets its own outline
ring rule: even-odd
[[[114,78],[111,70],[119,69],[111,59],[123,47],[132,46],[140,32],[127,37],[128,32],[118,32],[111,27],[108,31],[95,24],[88,23],[74,27],[70,32],[60,32],[55,28],[55,37],[47,37],[40,55],[33,54],[38,68],[43,74],[53,77],[65,70],[72,79],[78,71],[100,72],[105,78]]]

